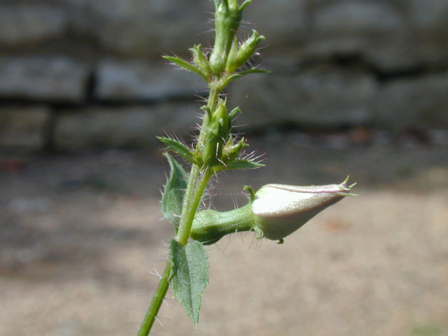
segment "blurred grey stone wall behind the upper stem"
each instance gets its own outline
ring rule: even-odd
[[[160,55],[209,45],[212,11],[207,0],[1,1],[0,148],[185,134],[207,92]],[[266,36],[272,71],[230,85],[246,130],[448,128],[448,1],[253,0],[245,15],[241,36]]]

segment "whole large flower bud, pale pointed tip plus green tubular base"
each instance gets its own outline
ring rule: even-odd
[[[190,232],[192,239],[202,244],[214,244],[224,235],[242,231],[254,231],[258,237],[279,240],[302,227],[323,209],[346,196],[353,196],[346,180],[328,186],[286,186],[267,184],[253,193],[244,207],[225,212],[204,210],[197,212]]]

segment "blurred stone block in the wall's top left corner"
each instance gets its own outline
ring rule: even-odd
[[[62,36],[68,23],[64,10],[54,7],[0,5],[0,45],[32,45]]]

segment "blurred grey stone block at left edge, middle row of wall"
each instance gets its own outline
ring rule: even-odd
[[[81,102],[88,74],[66,58],[0,58],[0,98]]]

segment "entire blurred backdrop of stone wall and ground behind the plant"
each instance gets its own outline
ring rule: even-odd
[[[199,328],[171,293],[155,335],[448,335],[448,1],[253,0],[267,75],[235,124],[244,184],[357,181],[282,246],[209,247]],[[156,135],[207,90],[160,55],[213,41],[212,1],[0,0],[0,335],[134,335],[173,232]]]

